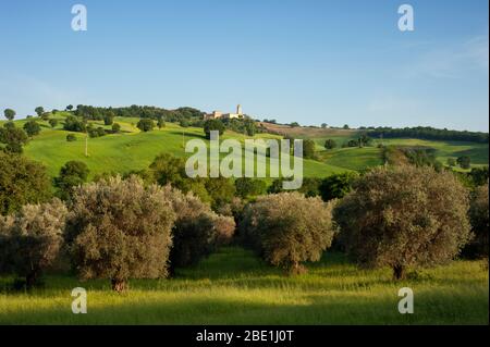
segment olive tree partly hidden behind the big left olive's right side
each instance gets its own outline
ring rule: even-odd
[[[193,194],[184,195],[170,186],[164,189],[176,213],[170,252],[172,272],[175,267],[196,264],[231,240],[235,228],[232,218],[216,214]]]

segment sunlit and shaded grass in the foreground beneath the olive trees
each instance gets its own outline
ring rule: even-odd
[[[389,269],[358,270],[327,252],[308,273],[286,276],[241,248],[223,248],[172,280],[134,280],[112,293],[108,281],[47,276],[46,289],[7,293],[0,324],[488,324],[488,271],[454,261],[393,282]],[[73,314],[71,290],[87,289],[87,314]],[[414,290],[414,313],[401,314],[397,292]]]

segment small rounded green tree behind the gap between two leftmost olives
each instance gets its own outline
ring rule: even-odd
[[[87,182],[90,171],[83,161],[68,161],[61,169],[58,177],[54,178],[54,186],[63,200],[70,199],[73,189]]]

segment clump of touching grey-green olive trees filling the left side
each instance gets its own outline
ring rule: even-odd
[[[69,259],[81,278],[109,278],[123,290],[131,277],[167,277],[199,261],[229,243],[234,227],[193,195],[110,177],[76,187],[68,205],[54,198],[1,218],[0,271],[23,276],[29,288]]]

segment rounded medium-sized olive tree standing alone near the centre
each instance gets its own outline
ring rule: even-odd
[[[298,193],[258,197],[245,208],[242,240],[269,263],[301,272],[302,262],[318,261],[332,243],[332,206]]]

